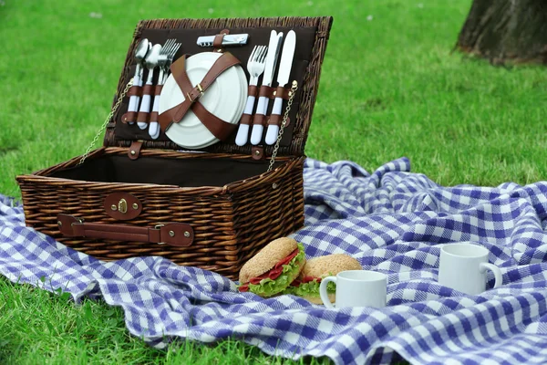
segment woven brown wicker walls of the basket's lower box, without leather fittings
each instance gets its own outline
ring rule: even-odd
[[[127,149],[110,148],[95,154],[99,151],[100,154],[127,153]],[[157,154],[158,151],[145,152]],[[192,158],[191,153],[162,153],[165,158]],[[79,158],[34,175],[17,177],[26,224],[99,259],[162,255],[179,265],[200,266],[235,279],[243,263],[263,245],[304,224],[304,158],[291,159],[272,172],[222,187],[90,183],[46,176],[75,166],[77,162]],[[105,214],[102,207],[107,195],[114,192],[131,193],[143,204],[139,217],[125,224],[188,223],[194,230],[194,243],[190,247],[175,247],[64,237],[59,233],[57,214],[76,215],[86,222],[119,224]]]

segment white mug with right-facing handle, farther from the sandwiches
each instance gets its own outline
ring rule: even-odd
[[[439,284],[469,295],[486,289],[486,270],[494,273],[494,288],[502,284],[501,270],[489,264],[489,251],[471,243],[448,244],[440,249]]]

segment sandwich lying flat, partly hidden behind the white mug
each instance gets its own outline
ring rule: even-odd
[[[336,276],[341,271],[362,270],[359,262],[350,255],[324,255],[307,260],[300,276],[287,287],[283,294],[292,294],[315,303],[323,304],[319,296],[321,280],[326,276]],[[336,285],[330,282],[326,285],[326,292],[331,303],[335,302]]]

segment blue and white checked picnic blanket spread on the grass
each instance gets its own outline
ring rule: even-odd
[[[308,159],[308,258],[356,257],[387,274],[387,308],[315,306],[299,297],[238,293],[236,283],[160,257],[104,263],[24,226],[0,198],[0,273],[10,280],[102,297],[130,333],[164,348],[183,338],[243,339],[269,354],[327,356],[336,364],[547,362],[547,183],[442,187],[408,159],[374,173],[354,162]],[[503,285],[468,296],[437,283],[443,244],[473,241],[501,266]],[[46,280],[40,280],[45,277]]]

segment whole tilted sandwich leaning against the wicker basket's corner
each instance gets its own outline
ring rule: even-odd
[[[261,297],[273,297],[293,282],[304,264],[304,246],[293,238],[278,238],[243,265],[238,289]]]

